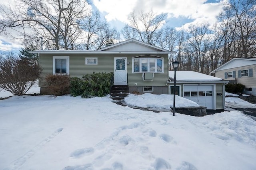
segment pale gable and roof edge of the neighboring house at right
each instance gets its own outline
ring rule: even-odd
[[[220,70],[243,67],[253,64],[256,64],[256,58],[233,58],[230,61],[213,70],[211,73],[215,73],[216,71]]]

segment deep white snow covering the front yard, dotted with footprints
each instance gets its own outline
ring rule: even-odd
[[[156,96],[126,101],[168,107],[170,98],[154,105]],[[173,117],[109,97],[14,96],[0,101],[0,136],[0,169],[6,170],[256,168],[256,121],[238,111]]]

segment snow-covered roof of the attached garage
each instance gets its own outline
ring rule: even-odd
[[[169,77],[174,79],[174,71],[169,71]],[[176,81],[222,81],[222,79],[195,71],[176,71]]]

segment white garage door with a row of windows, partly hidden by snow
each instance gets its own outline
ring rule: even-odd
[[[196,102],[207,109],[214,109],[214,96],[212,85],[185,85],[184,98]]]

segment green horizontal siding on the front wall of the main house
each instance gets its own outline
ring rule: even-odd
[[[48,74],[52,74],[53,69],[53,56],[64,55],[52,55],[52,54],[40,54],[40,67],[42,72],[40,73],[40,87],[45,87],[44,78]],[[136,54],[69,54],[69,74],[71,77],[82,78],[85,74],[92,74],[93,72],[114,72],[114,58],[115,57],[127,57],[127,73],[128,73],[128,85],[131,87],[143,87],[143,86],[166,86],[168,79],[168,55],[157,55],[158,57],[164,57],[164,73],[154,73],[153,81],[144,81],[142,73],[132,73],[132,57],[136,57]],[[98,57],[98,65],[86,65],[86,57]],[[137,83],[137,86],[134,85]]]

